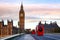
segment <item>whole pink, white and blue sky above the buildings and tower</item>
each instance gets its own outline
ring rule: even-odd
[[[57,21],[60,26],[60,0],[0,0],[0,20],[14,20],[18,26],[21,2],[25,11],[25,28],[35,29],[39,21],[49,24]]]

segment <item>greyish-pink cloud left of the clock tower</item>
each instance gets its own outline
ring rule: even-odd
[[[0,4],[0,18],[2,19],[17,19],[19,8],[13,4]],[[16,17],[14,17],[16,16]]]

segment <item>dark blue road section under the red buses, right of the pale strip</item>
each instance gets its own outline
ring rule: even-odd
[[[60,35],[45,34],[44,36],[32,35],[36,40],[60,40]]]

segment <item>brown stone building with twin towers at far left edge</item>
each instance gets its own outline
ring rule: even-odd
[[[13,21],[8,21],[8,25],[4,25],[4,21],[0,21],[0,37],[12,35]]]

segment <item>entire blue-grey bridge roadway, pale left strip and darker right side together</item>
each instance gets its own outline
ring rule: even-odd
[[[32,34],[25,34],[10,40],[60,40],[60,34],[45,34],[44,36],[37,36]]]

